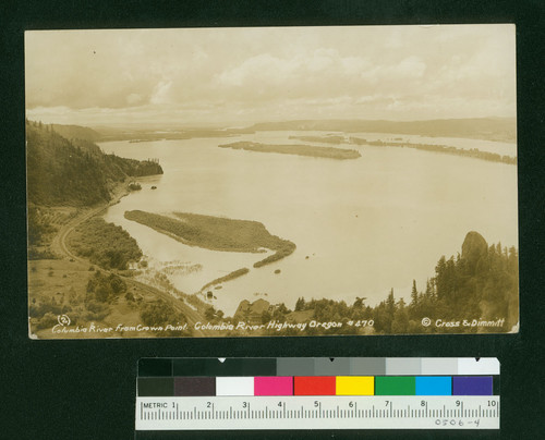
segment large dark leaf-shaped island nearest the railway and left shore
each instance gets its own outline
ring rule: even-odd
[[[295,244],[271,235],[263,223],[190,212],[173,212],[173,217],[141,210],[126,211],[128,220],[136,221],[190,246],[210,250],[275,254],[254,264],[261,267],[277,261],[295,250]],[[175,218],[174,218],[175,217]]]

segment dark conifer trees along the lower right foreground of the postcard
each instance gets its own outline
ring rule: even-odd
[[[366,306],[365,298],[356,298],[352,305],[344,301],[311,300],[300,297],[295,313],[308,311],[310,319],[319,322],[343,322],[340,328],[305,329],[311,334],[360,334],[368,327],[348,326],[347,322],[373,320],[374,333],[463,333],[506,332],[518,323],[519,317],[519,267],[514,247],[501,247],[498,243],[488,246],[477,232],[465,236],[461,255],[440,257],[435,267],[435,276],[427,280],[423,290],[413,281],[410,302],[396,300],[393,290],[387,298],[375,307]],[[277,307],[274,319],[290,320],[291,310],[283,304]],[[265,313],[264,313],[265,314]],[[272,317],[266,311],[264,318]],[[428,318],[429,325],[423,326]],[[462,320],[482,325],[463,326]],[[501,327],[488,327],[483,321],[504,319]],[[449,326],[439,325],[449,322]],[[456,322],[460,325],[456,326]],[[301,335],[298,330],[268,331],[267,334]]]

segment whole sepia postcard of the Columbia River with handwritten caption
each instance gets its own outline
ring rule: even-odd
[[[519,331],[513,24],[25,32],[31,339]]]

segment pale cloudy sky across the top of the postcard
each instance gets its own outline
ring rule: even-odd
[[[25,83],[88,126],[514,117],[514,25],[32,30]]]

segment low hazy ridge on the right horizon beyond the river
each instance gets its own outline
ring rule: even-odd
[[[429,121],[298,120],[254,124],[255,131],[327,131],[395,133],[421,136],[517,140],[514,118],[437,119]]]

